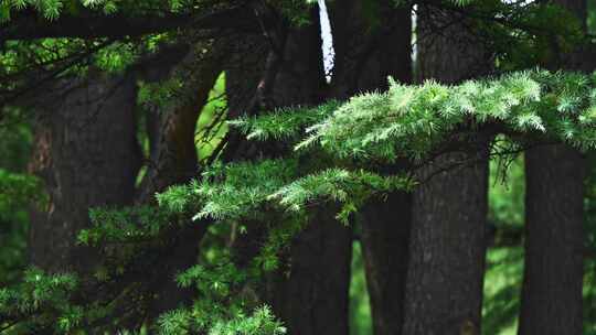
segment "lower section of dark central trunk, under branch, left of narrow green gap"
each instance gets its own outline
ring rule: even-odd
[[[274,306],[288,334],[349,334],[351,229],[321,208],[292,241],[290,273],[277,278]]]

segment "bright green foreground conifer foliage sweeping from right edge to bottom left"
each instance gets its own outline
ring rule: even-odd
[[[242,295],[246,292],[240,298],[235,294],[243,291],[246,282],[257,280],[255,273],[276,268],[280,249],[301,229],[309,207],[321,202],[341,203],[338,217],[348,223],[350,214],[371,196],[413,190],[416,183],[424,182],[412,173],[379,174],[374,169],[380,164],[400,158],[424,162],[439,151],[473,150],[473,145],[469,145],[473,140],[470,130],[483,127],[509,136],[512,142],[523,139],[512,144],[517,150],[549,141],[592,149],[596,144],[595,80],[594,76],[577,73],[530,71],[455,86],[434,82],[408,86],[392,82],[386,93],[363,94],[344,104],[330,102],[306,112],[298,108],[244,118],[232,123],[248,137],[294,139],[296,145],[288,152],[289,156],[215,165],[205,171],[201,180],[159,194],[159,210],[163,214],[149,212],[151,215],[147,216],[138,210],[137,215],[118,210],[100,215],[96,212],[93,217],[97,227],[83,231],[79,238],[83,242],[88,242],[91,236],[94,240],[109,240],[109,237],[134,240],[155,235],[162,228],[156,226],[159,221],[167,225],[169,220],[158,219],[160,215],[189,212],[199,225],[207,219],[241,224],[272,220],[269,225],[275,229],[256,257],[254,268],[238,269],[222,258],[210,267],[196,266],[181,273],[179,284],[198,285],[202,298],[190,310],[162,315],[159,326],[163,334],[181,334],[180,329],[185,328],[210,329],[212,334],[242,334],[247,329],[251,332],[246,334],[280,334],[283,326],[270,310],[256,306],[254,313],[244,314],[243,306],[249,305]],[[272,122],[275,118],[281,121]],[[454,136],[461,140],[461,145],[445,147],[444,141]],[[493,154],[507,152],[493,151]],[[322,155],[327,160],[319,160],[319,166],[298,169],[297,159],[308,155]],[[338,165],[338,162],[343,163]],[[466,163],[469,162],[461,162]],[[415,166],[416,163],[412,169]],[[298,171],[310,173],[301,175]],[[139,220],[128,221],[132,217]],[[288,224],[292,221],[296,224]],[[76,281],[71,277],[46,277],[39,271],[31,273],[28,274],[32,278],[29,289],[25,287],[19,293],[3,292],[4,313],[14,315],[14,309],[35,312],[43,304],[55,303],[64,313],[58,314],[64,318],[60,324],[78,324],[77,318],[82,316],[73,313],[74,306],[64,310],[67,300],[55,298],[55,294],[74,290]],[[26,293],[26,290],[32,291]],[[221,312],[214,313],[216,310]],[[210,316],[204,318],[207,314]]]

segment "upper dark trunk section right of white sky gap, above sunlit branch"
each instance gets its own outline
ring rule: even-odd
[[[409,8],[379,1],[330,3],[336,60],[329,95],[347,99],[360,91],[384,90],[387,76],[412,82],[412,18]],[[366,12],[366,13],[364,13]]]

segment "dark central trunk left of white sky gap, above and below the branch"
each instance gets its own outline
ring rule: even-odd
[[[315,105],[324,98],[318,15],[312,21],[315,25],[288,34],[273,91],[277,106]],[[351,229],[334,218],[334,212],[324,208],[312,215],[291,244],[289,275],[277,278],[274,290],[274,307],[289,334],[349,334],[351,255]]]

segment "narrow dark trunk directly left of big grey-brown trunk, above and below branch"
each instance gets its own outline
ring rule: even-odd
[[[358,79],[358,90],[384,90],[387,76],[412,83],[412,13],[385,3],[380,26],[368,36],[370,55]],[[364,30],[365,31],[365,30]],[[396,192],[374,199],[360,212],[361,246],[375,335],[402,333],[412,195]]]

